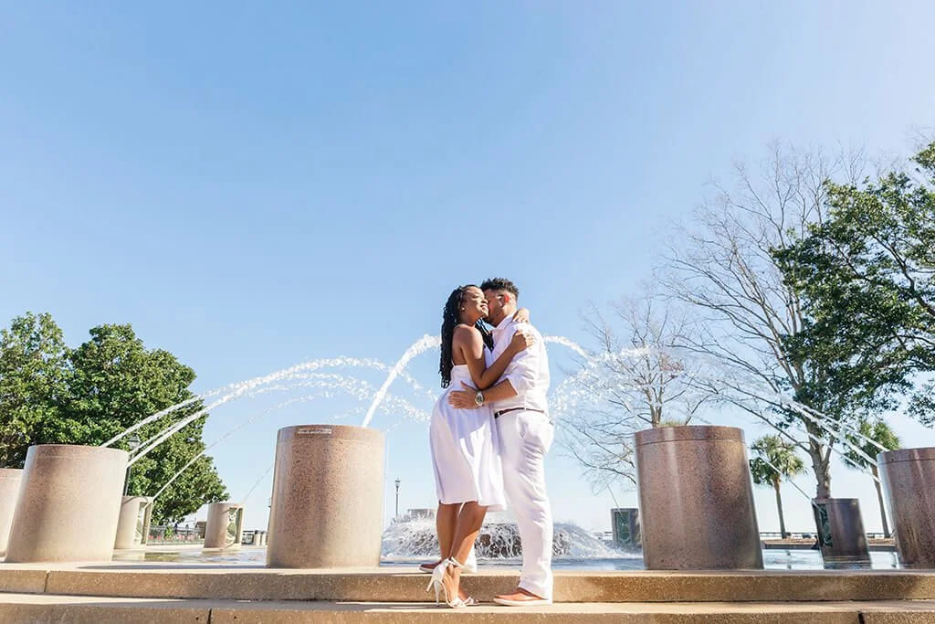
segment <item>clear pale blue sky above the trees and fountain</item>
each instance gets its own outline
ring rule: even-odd
[[[647,277],[734,160],[775,138],[910,152],[935,123],[933,22],[928,2],[2,3],[0,322],[48,311],[70,344],[132,323],[207,390],[308,358],[393,362],[453,286],[502,275],[543,333],[584,341],[579,311]],[[412,366],[430,388],[435,357]],[[220,444],[232,496],[276,428],[349,405]],[[218,410],[206,439],[256,409]],[[396,476],[401,509],[434,504],[425,429],[389,431],[388,515]],[[609,529],[607,492],[557,449],[548,470],[558,519]],[[834,478],[878,529],[870,477]],[[790,529],[811,529],[787,490]],[[770,491],[758,505],[775,530]]]

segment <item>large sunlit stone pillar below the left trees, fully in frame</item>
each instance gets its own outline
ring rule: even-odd
[[[128,457],[103,446],[30,446],[7,562],[109,561]]]

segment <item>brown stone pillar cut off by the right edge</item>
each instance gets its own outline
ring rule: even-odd
[[[899,563],[935,569],[935,447],[901,448],[877,456]]]

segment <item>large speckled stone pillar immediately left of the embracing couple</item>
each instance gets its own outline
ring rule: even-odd
[[[384,436],[371,428],[281,428],[266,565],[380,564]]]

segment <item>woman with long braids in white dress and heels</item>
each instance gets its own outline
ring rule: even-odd
[[[448,297],[441,324],[442,387],[460,388],[464,382],[485,390],[496,384],[513,356],[531,344],[531,338],[516,332],[506,351],[488,366],[493,341],[481,325],[487,312],[487,300],[478,286],[460,286]],[[528,318],[525,310],[517,316]],[[439,494],[436,529],[441,560],[432,570],[428,588],[435,589],[436,602],[443,593],[449,606],[468,606],[475,601],[460,588],[461,569],[487,510],[506,506],[493,411],[485,405],[457,410],[448,404],[445,392],[432,411],[429,442]]]

